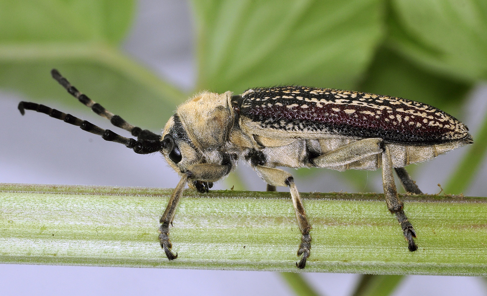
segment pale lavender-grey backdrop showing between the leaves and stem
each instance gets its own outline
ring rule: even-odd
[[[190,90],[195,82],[192,37],[186,1],[140,0],[137,19],[123,48],[161,77]],[[0,92],[0,182],[154,187],[177,184],[177,175],[158,155],[137,155],[122,145],[107,143],[43,114],[20,116],[17,104],[28,99],[18,93]],[[103,98],[94,100],[103,104]],[[478,85],[469,100],[468,110],[459,110],[460,116],[455,116],[475,135],[487,113],[487,85]],[[70,110],[59,106],[54,98],[52,103],[42,103],[107,127],[105,120],[88,110]],[[40,132],[38,127],[42,127]],[[59,135],[66,142],[52,144],[50,139]],[[455,167],[465,150],[452,151],[423,165],[415,177],[420,188],[437,193],[437,184],[446,182],[450,168]],[[249,188],[265,188],[255,172],[245,165],[240,169]],[[485,196],[486,176],[484,164],[465,194]],[[378,192],[382,191],[376,174],[371,174],[369,182]],[[302,191],[353,191],[329,174],[299,180],[298,186]],[[220,183],[217,188],[226,186]],[[164,206],[161,204],[161,210]],[[2,295],[293,295],[279,274],[272,272],[2,264],[0,275]],[[348,274],[304,276],[327,296],[349,295],[358,278]],[[394,296],[411,295],[485,296],[487,287],[475,277],[411,276]]]

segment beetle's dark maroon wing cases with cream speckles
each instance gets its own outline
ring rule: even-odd
[[[262,128],[382,138],[432,145],[468,136],[468,128],[430,105],[366,92],[301,86],[250,89],[241,114]]]

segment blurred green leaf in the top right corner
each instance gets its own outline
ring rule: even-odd
[[[394,49],[455,79],[487,78],[487,1],[392,0],[392,9]]]

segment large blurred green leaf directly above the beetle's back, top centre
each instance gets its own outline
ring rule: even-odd
[[[383,1],[198,1],[199,89],[352,88],[383,37]]]

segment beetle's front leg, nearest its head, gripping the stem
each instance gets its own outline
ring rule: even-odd
[[[164,249],[166,256],[169,260],[174,260],[178,258],[178,254],[174,255],[171,252],[172,243],[169,240],[169,224],[172,226],[172,220],[174,219],[174,214],[176,213],[176,207],[179,203],[181,196],[183,195],[183,189],[186,183],[200,180],[201,182],[212,183],[222,179],[225,175],[230,172],[230,165],[213,165],[213,164],[198,164],[190,166],[186,172],[183,173],[181,181],[179,181],[176,188],[171,194],[168,206],[162,214],[159,222],[161,226],[159,227],[159,242],[161,247]]]

